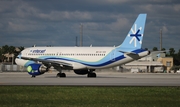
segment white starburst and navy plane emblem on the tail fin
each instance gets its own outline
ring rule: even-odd
[[[129,37],[132,37],[132,39],[130,40],[129,44],[132,44],[134,42],[134,47],[137,46],[137,41],[142,44],[142,41],[139,38],[143,36],[143,34],[139,34],[141,29],[142,27],[139,27],[139,29],[137,30],[137,24],[134,24],[134,29],[131,28],[131,34],[129,34]]]

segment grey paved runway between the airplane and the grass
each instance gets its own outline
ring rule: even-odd
[[[180,86],[180,74],[97,72],[96,78],[65,72],[66,78],[56,78],[57,72],[31,78],[26,72],[0,73],[0,85],[59,86]]]

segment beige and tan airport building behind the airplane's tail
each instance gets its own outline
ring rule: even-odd
[[[173,58],[166,57],[165,52],[156,51],[139,60],[122,65],[121,69],[131,72],[167,72],[173,67]]]

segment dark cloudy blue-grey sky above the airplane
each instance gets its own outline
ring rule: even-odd
[[[0,0],[0,46],[118,46],[140,13],[142,48],[180,49],[179,0]]]

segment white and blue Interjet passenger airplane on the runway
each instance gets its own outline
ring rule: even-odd
[[[117,47],[30,47],[15,59],[17,65],[27,67],[32,77],[54,68],[56,77],[66,77],[62,70],[73,70],[78,75],[96,77],[96,69],[120,66],[150,54],[142,49],[147,14],[139,14],[129,33]]]

